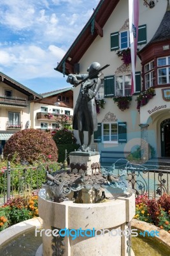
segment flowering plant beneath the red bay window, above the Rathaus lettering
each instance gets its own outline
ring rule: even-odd
[[[154,92],[153,88],[148,88],[148,90],[145,90],[138,95],[136,98],[138,111],[140,111],[141,106],[145,106],[148,101],[153,98],[155,95]]]

